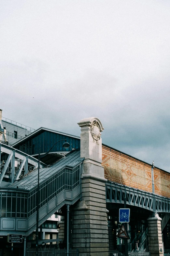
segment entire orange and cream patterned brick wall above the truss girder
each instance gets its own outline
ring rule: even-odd
[[[122,185],[152,192],[151,165],[102,146],[105,178]],[[170,198],[170,173],[154,168],[155,194]]]

